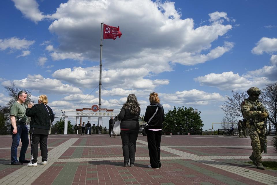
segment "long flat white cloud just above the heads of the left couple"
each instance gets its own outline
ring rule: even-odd
[[[69,84],[63,84],[57,79],[44,78],[42,75],[28,75],[27,78],[12,81],[18,88],[38,90],[40,93],[76,94],[81,90]],[[10,81],[2,85],[10,85]]]

